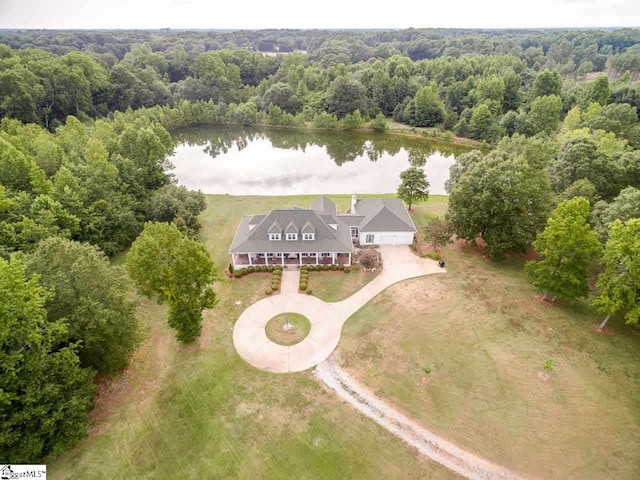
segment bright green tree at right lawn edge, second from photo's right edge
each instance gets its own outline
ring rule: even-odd
[[[551,212],[546,228],[533,243],[540,259],[528,262],[525,269],[544,299],[551,294],[574,300],[589,293],[590,267],[602,246],[588,218],[589,200],[565,200]]]

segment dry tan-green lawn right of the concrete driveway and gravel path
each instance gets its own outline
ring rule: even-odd
[[[640,330],[617,318],[602,335],[586,303],[542,303],[521,261],[461,245],[444,254],[446,275],[393,286],[347,321],[339,362],[428,428],[524,474],[640,478]]]

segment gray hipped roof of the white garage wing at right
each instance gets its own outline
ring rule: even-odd
[[[399,198],[365,198],[356,202],[363,215],[361,232],[415,232],[416,227]]]

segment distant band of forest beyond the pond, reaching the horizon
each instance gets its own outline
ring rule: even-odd
[[[393,116],[493,143],[551,131],[576,105],[640,106],[636,30],[288,34],[308,53],[264,56],[237,32],[5,32],[0,116],[54,130],[68,115],[211,101],[230,123],[360,128],[377,118],[384,129]],[[612,83],[584,81],[605,69]]]

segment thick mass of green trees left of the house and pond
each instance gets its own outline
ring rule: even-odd
[[[173,183],[172,150],[144,116],[69,116],[53,133],[0,122],[3,460],[41,463],[86,435],[96,376],[142,339],[132,286],[169,304],[180,341],[199,335],[215,268],[194,239],[204,195]],[[132,242],[127,275],[109,256]]]

